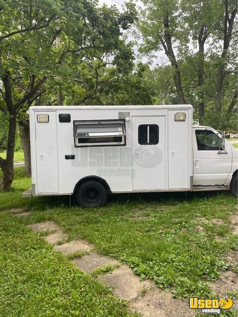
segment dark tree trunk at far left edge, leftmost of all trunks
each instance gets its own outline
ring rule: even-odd
[[[0,160],[0,168],[3,173],[2,179],[0,181],[0,189],[7,192],[11,190],[11,185],[14,178],[13,161],[14,161],[16,128],[17,128],[17,118],[15,115],[9,119],[7,156],[6,156],[6,159]]]

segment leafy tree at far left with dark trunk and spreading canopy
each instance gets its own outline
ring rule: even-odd
[[[23,126],[23,149],[29,153],[29,142],[24,142],[29,135],[27,108],[51,84],[60,86],[59,78],[76,77],[67,65],[70,56],[92,61],[105,52],[119,50],[123,42],[120,29],[130,27],[136,11],[130,3],[123,13],[115,7],[99,9],[93,0],[0,0],[0,10],[4,21],[0,29],[0,110],[9,120],[7,158],[0,159],[0,188],[10,190],[17,121]],[[60,43],[56,45],[59,36]],[[26,154],[25,157],[29,158]]]

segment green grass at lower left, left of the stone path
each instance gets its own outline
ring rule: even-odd
[[[84,275],[9,213],[0,214],[0,316],[129,316],[126,303]]]

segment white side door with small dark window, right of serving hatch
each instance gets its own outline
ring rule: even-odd
[[[133,190],[166,188],[165,118],[132,117]]]

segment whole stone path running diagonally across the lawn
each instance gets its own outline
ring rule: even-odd
[[[27,212],[22,212],[26,216]],[[30,212],[29,212],[30,214]],[[20,217],[20,213],[16,215]],[[154,281],[141,281],[138,275],[127,265],[117,259],[98,254],[94,245],[85,240],[67,241],[67,235],[53,221],[46,221],[28,225],[34,232],[48,232],[43,237],[53,245],[53,249],[65,256],[73,255],[72,263],[83,273],[92,274],[97,270],[97,278],[105,285],[113,288],[113,295],[127,300],[129,313],[137,312],[144,317],[192,317],[196,311],[189,309],[188,301],[172,297],[171,292],[159,289]],[[110,273],[99,270],[109,266]]]

